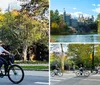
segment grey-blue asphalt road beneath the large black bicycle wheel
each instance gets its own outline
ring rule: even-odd
[[[8,77],[0,78],[0,85],[13,84]],[[49,85],[49,72],[47,71],[25,71],[24,80],[17,85]]]

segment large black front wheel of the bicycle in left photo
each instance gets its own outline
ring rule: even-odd
[[[14,84],[20,83],[24,79],[24,71],[18,65],[12,65],[8,70],[8,78]]]

